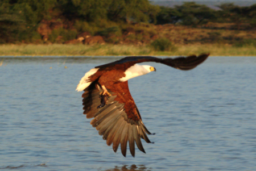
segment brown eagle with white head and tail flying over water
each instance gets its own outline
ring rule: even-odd
[[[207,59],[209,54],[200,56],[159,59],[151,56],[130,56],[109,64],[96,66],[81,78],[77,91],[84,90],[82,105],[86,118],[96,127],[98,134],[113,144],[117,152],[121,144],[122,155],[126,156],[127,143],[131,155],[135,156],[135,143],[144,152],[141,138],[151,143],[147,134],[151,134],[142,122],[141,114],[131,97],[128,80],[156,71],[153,66],[139,65],[141,62],[159,62],[180,70],[195,68]]]

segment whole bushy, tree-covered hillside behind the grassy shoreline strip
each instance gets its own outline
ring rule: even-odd
[[[212,10],[195,2],[159,7],[148,0],[2,0],[0,44],[32,43],[56,48],[50,44],[90,44],[84,47],[88,50],[79,48],[80,52],[74,52],[77,55],[95,49],[97,45],[92,44],[98,40],[105,43],[98,46],[101,48],[111,47],[107,44],[119,45],[118,49],[126,47],[122,51],[110,48],[102,52],[112,55],[131,54],[128,49],[138,54],[176,54],[180,47],[204,44],[229,49],[255,48],[256,4],[240,7],[225,3],[219,7],[222,10]],[[86,35],[98,40],[85,41]],[[135,47],[143,48],[137,51]]]

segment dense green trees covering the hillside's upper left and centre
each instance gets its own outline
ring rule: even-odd
[[[38,39],[38,28],[48,23],[49,31],[55,29],[54,22],[61,23],[53,31],[50,41],[57,42],[58,36],[65,36],[62,41],[71,40],[76,30],[79,34],[88,31],[90,34],[105,35],[106,32],[120,34],[122,24],[131,22],[156,22],[158,6],[148,0],[2,0],[0,3],[0,43],[25,41],[34,43]],[[54,21],[54,22],[53,22]],[[51,28],[52,27],[52,28]],[[40,33],[42,35],[42,33]],[[40,39],[40,38],[39,38]],[[59,43],[63,43],[60,41]]]

